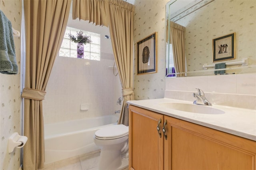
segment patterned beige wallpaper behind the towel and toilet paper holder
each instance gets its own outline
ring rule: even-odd
[[[0,10],[12,22],[12,27],[21,30],[22,0],[0,0]],[[18,170],[20,168],[20,149],[8,153],[8,138],[14,132],[21,134],[20,99],[20,46],[21,39],[14,37],[17,75],[0,74],[0,169]]]

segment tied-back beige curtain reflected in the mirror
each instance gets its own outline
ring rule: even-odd
[[[170,22],[170,31],[172,35],[172,51],[174,58],[174,67],[176,73],[186,71],[185,67],[185,30],[184,26]],[[184,74],[177,74],[177,77],[183,77]]]

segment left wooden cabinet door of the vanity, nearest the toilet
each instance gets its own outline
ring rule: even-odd
[[[164,168],[164,116],[129,105],[129,170],[162,170]],[[157,126],[160,123],[161,137]]]

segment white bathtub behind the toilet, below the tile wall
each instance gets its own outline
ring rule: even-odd
[[[44,125],[45,164],[98,150],[94,132],[115,125],[118,115],[79,119]]]

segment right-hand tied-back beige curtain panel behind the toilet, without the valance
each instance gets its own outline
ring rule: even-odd
[[[122,83],[122,106],[119,124],[128,126],[126,101],[134,99],[133,93],[133,16],[134,5],[122,0],[110,0],[110,37],[116,67]]]

